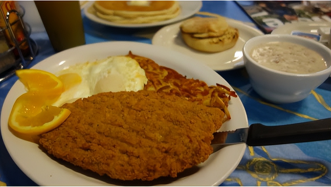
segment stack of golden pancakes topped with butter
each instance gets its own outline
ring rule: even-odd
[[[95,1],[92,8],[99,18],[122,24],[159,22],[180,14],[177,1]]]

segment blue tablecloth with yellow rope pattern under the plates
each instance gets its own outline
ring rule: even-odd
[[[200,11],[219,14],[252,24],[252,20],[233,1],[203,1],[203,7]],[[146,29],[104,26],[88,20],[84,15],[83,21],[87,44],[112,40],[151,44],[151,38],[141,37],[137,34],[148,32]],[[38,54],[28,68],[55,54],[46,32],[32,33],[31,38],[38,45]],[[237,92],[244,104],[249,124],[261,123],[275,126],[331,117],[330,83],[316,88],[302,101],[290,104],[272,104],[263,100],[252,89],[245,68],[218,73]],[[1,108],[8,91],[17,80],[18,78],[13,76],[1,83]],[[14,163],[2,138],[0,140],[0,184],[37,186]],[[247,147],[238,167],[220,186],[330,186],[330,170],[331,140]]]

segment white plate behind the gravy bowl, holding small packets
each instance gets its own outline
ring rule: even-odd
[[[281,25],[278,28],[274,29],[271,34],[291,34],[292,31],[301,31],[310,34],[318,34],[317,29],[319,27],[330,27],[331,23],[329,22],[315,22],[315,21],[301,21],[294,23],[286,23]]]

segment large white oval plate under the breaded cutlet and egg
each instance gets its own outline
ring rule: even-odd
[[[179,73],[186,75],[188,78],[200,79],[209,85],[219,83],[231,88],[215,71],[189,56],[160,46],[136,42],[116,41],[79,46],[50,56],[32,68],[55,73],[72,64],[95,61],[96,59],[103,59],[107,56],[127,55],[129,50],[131,50],[133,54],[149,57],[160,65],[173,68]],[[8,129],[8,117],[16,98],[23,93],[25,93],[24,85],[20,81],[17,81],[5,98],[1,111],[1,134],[5,146],[15,163],[38,185],[136,186],[137,184],[145,184],[139,183],[139,181],[120,183],[118,180],[110,179],[108,176],[99,176],[92,171],[83,170],[60,159],[54,159],[43,152],[37,144],[16,137]],[[229,111],[232,119],[222,126],[222,130],[226,131],[234,128],[248,127],[246,112],[239,97],[231,98]],[[219,185],[237,167],[245,149],[246,144],[225,147],[213,153],[206,162],[180,173],[181,177],[169,181],[167,177],[162,178],[162,180],[156,179],[148,183],[148,185]]]

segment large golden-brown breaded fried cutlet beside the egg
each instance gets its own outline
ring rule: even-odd
[[[40,135],[49,154],[121,180],[176,177],[213,152],[224,112],[164,92],[99,93],[62,106],[71,115]]]

